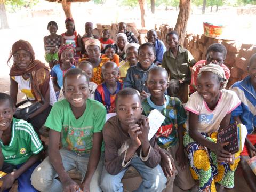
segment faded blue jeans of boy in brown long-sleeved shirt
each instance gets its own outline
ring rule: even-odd
[[[166,177],[164,176],[163,170],[160,165],[154,168],[150,168],[141,161],[140,157],[133,157],[131,161],[131,166],[133,166],[141,175],[143,181],[141,182],[139,188],[135,191],[162,191],[165,188]],[[111,175],[107,172],[105,167],[103,167],[101,175],[101,189],[104,192],[113,191],[123,191],[123,184],[121,183],[124,177],[126,169],[123,169],[117,175]]]

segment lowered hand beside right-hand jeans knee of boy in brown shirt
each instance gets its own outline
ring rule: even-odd
[[[164,153],[164,155],[161,156],[160,165],[162,167],[165,177],[172,177],[174,175],[176,169],[173,158],[171,156]]]

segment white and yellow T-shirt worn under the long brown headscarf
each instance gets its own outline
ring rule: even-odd
[[[28,100],[34,101],[35,97],[33,93],[31,92],[31,86],[30,86],[30,78],[24,79],[21,75],[20,76],[13,76],[12,79],[18,83],[19,89],[22,93],[26,94]],[[52,79],[50,78],[49,81],[49,88],[50,88],[50,105],[53,106],[53,104],[57,101],[55,91],[52,84]]]

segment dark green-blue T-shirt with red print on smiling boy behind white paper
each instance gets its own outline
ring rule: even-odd
[[[165,116],[164,122],[156,133],[157,144],[163,148],[174,146],[177,143],[177,125],[175,124],[184,124],[187,120],[186,111],[178,98],[165,95],[165,99],[166,103],[162,106],[155,105],[150,96],[142,101],[143,115],[148,116],[151,110],[157,109]]]

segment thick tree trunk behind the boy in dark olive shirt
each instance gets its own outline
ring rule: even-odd
[[[190,8],[191,0],[180,0],[180,12],[174,30],[180,35],[179,43],[181,46],[184,44]]]

